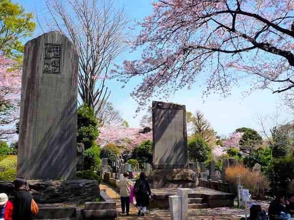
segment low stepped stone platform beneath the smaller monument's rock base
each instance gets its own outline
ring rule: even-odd
[[[169,208],[169,196],[176,195],[176,188],[151,189],[152,200],[151,207],[159,209]],[[235,196],[230,193],[197,187],[189,193],[189,208],[217,208],[233,207]]]

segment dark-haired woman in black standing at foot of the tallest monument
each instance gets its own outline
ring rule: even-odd
[[[13,201],[12,220],[32,220],[32,196],[25,179],[17,178],[13,182],[15,196]]]

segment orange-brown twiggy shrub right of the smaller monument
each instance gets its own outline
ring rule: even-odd
[[[244,189],[249,189],[257,199],[265,198],[270,182],[262,173],[251,172],[243,166],[229,167],[225,171],[225,179],[236,189],[236,178],[240,176]]]

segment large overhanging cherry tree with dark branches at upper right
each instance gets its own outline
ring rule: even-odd
[[[132,92],[139,106],[195,83],[204,96],[225,97],[245,77],[248,91],[269,88],[293,101],[293,21],[293,0],[157,0],[133,43],[141,59],[114,74],[124,83],[143,77]]]

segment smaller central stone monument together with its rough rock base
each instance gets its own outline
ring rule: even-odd
[[[186,107],[152,102],[153,188],[196,187],[197,174],[189,170]]]

